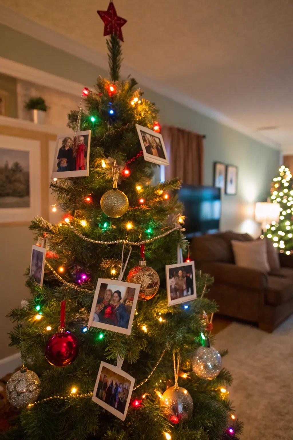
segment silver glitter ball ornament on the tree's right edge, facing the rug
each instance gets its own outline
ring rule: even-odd
[[[222,359],[220,353],[213,347],[199,347],[192,355],[192,370],[201,379],[211,381],[221,371]]]

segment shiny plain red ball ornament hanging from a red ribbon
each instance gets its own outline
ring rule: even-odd
[[[79,341],[70,331],[56,333],[46,344],[45,357],[54,367],[66,367],[76,359],[79,349]]]

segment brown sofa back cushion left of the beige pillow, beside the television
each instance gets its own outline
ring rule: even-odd
[[[219,238],[218,234],[206,234],[192,238],[190,251],[195,263],[199,261],[233,262],[230,243]]]

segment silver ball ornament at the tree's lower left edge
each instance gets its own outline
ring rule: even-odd
[[[40,391],[40,379],[36,373],[26,367],[12,374],[6,385],[7,399],[17,408],[34,403]]]

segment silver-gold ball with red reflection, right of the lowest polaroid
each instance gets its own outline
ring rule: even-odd
[[[169,409],[169,420],[174,424],[188,420],[193,412],[192,396],[181,386],[166,389],[160,399],[160,405]]]

